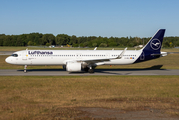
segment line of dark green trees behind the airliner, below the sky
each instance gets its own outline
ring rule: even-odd
[[[134,47],[146,44],[150,38],[140,37],[96,37],[96,36],[69,36],[67,34],[30,33],[21,35],[0,34],[0,46],[61,46],[73,47]],[[165,37],[163,47],[179,46],[179,37]]]

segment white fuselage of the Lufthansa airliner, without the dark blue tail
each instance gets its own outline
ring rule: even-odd
[[[96,65],[122,65],[134,63],[142,51],[127,50],[121,59],[115,59],[121,52],[122,50],[23,50],[15,52],[18,56],[8,57],[6,62],[15,65],[65,65],[68,61],[99,59],[101,61]]]

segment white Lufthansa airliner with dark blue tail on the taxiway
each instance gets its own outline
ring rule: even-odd
[[[14,52],[5,61],[23,65],[62,65],[69,72],[82,70],[94,73],[98,65],[127,65],[167,56],[161,52],[165,29],[159,29],[140,50],[22,50]]]

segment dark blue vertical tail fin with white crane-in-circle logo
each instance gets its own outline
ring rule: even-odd
[[[160,53],[165,29],[160,29],[143,48],[144,52]]]

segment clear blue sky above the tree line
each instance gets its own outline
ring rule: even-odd
[[[0,34],[179,36],[179,0],[0,0]]]

